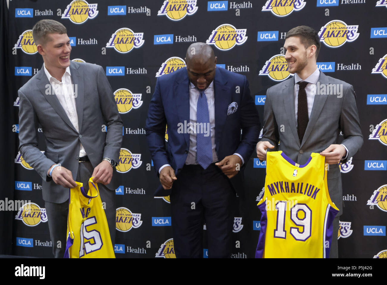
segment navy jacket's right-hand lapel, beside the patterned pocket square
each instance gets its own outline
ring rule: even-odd
[[[230,88],[226,84],[227,80],[222,76],[220,68],[217,68],[214,78],[216,152],[218,152],[221,143],[222,131],[227,119],[228,105],[232,103]]]

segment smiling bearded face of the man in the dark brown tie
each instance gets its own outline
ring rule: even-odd
[[[286,50],[285,59],[288,62],[289,72],[300,75],[310,61],[307,49],[305,49],[304,44],[300,42],[299,37],[287,38],[285,40],[284,48]]]

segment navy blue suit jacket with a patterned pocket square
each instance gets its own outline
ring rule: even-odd
[[[146,120],[146,136],[154,166],[158,172],[170,164],[178,178],[190,147],[190,134],[178,133],[178,124],[190,122],[190,94],[187,68],[158,77]],[[215,93],[215,144],[220,160],[234,153],[240,154],[245,164],[259,139],[260,122],[255,103],[250,96],[244,75],[224,68],[216,68]],[[227,114],[232,102],[238,104],[235,113]],[[168,143],[165,129],[168,126]],[[241,134],[242,130],[242,134]],[[242,167],[241,167],[242,170]],[[243,173],[239,171],[230,179],[234,189],[243,186]],[[168,196],[171,190],[160,185],[155,196]]]

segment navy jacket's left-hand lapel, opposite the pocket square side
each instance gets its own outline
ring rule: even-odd
[[[190,122],[190,91],[189,91],[189,80],[187,72],[183,72],[183,76],[176,79],[173,97],[176,102],[176,110],[179,117],[178,123]],[[184,139],[187,146],[190,145],[190,134],[184,132]]]

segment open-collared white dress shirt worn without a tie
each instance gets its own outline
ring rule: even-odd
[[[79,132],[77,109],[75,108],[75,96],[74,87],[71,80],[70,67],[66,68],[65,73],[62,76],[62,81],[58,81],[55,77],[52,77],[48,72],[45,64],[43,63],[46,76],[51,84],[51,94],[55,93],[60,104],[65,110],[70,122],[73,124],[75,130]],[[85,156],[86,151],[80,144],[79,157]]]

